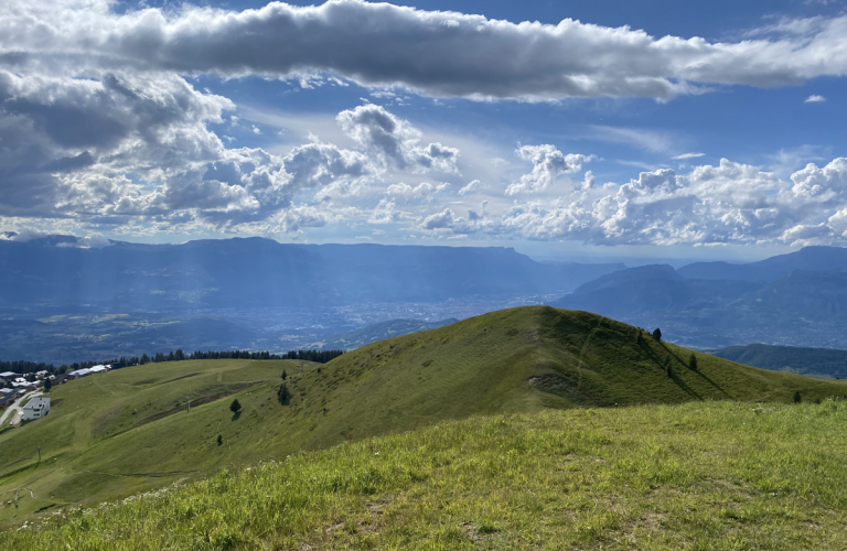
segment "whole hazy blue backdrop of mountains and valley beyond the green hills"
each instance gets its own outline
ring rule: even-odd
[[[537,262],[503,247],[85,244],[71,236],[0,240],[0,316],[9,327],[0,334],[2,359],[76,361],[180,346],[358,347],[406,332],[365,325],[463,318],[536,296],[657,326],[703,349],[847,348],[847,249],[837,247],[674,269]],[[128,316],[104,317],[111,314]]]

